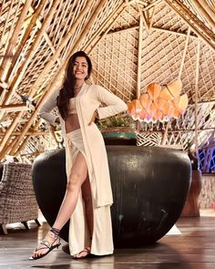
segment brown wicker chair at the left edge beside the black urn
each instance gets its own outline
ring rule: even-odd
[[[0,181],[0,228],[7,233],[6,224],[38,218],[38,205],[32,182],[32,165],[20,162],[5,163]]]

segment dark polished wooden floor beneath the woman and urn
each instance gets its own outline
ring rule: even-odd
[[[63,247],[43,259],[28,261],[37,240],[48,229],[30,222],[30,231],[22,224],[8,225],[8,234],[0,234],[0,268],[59,269],[214,269],[215,212],[201,212],[200,218],[180,218],[176,223],[181,234],[164,236],[153,246],[141,249],[116,249],[115,254],[102,258],[74,260]]]

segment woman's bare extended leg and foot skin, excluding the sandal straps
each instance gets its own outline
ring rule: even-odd
[[[81,189],[81,185],[87,178],[87,162],[85,157],[81,152],[77,154],[77,158],[74,162],[74,165],[71,169],[71,173],[69,176],[69,181],[67,182],[67,191],[64,197],[64,200],[61,204],[60,210],[56,217],[56,222],[53,227],[61,230],[63,226],[70,219],[71,214],[74,212],[77,205],[77,198],[79,191]],[[46,235],[46,241],[49,243],[57,243],[55,236]],[[44,245],[39,244],[37,248],[44,247]],[[48,249],[37,250],[33,253],[33,257],[40,256],[46,253]]]

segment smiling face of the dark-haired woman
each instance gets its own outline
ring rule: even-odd
[[[76,79],[85,80],[88,75],[88,65],[86,57],[77,57],[73,64],[73,75]]]

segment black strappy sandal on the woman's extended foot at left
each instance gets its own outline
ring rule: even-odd
[[[53,234],[54,233],[54,234]],[[44,256],[46,256],[47,253],[50,253],[51,251],[53,251],[55,248],[58,248],[60,246],[60,237],[59,237],[59,233],[60,233],[60,230],[56,229],[56,228],[52,228],[48,233],[47,235],[49,237],[52,237],[55,236],[55,241],[53,243],[50,243],[48,242],[47,240],[43,240],[40,244],[42,245],[45,245],[44,247],[39,247],[39,248],[36,248],[36,252],[39,251],[39,250],[42,250],[42,249],[47,249],[48,251],[44,254],[40,254],[39,256],[34,256],[32,255],[31,257],[29,257],[29,260],[38,260],[38,259],[41,259],[43,258]],[[56,243],[56,240],[58,240],[58,243]],[[54,244],[56,243],[56,244]]]

